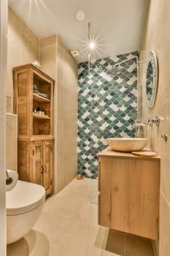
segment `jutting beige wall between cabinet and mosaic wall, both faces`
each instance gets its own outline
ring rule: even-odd
[[[40,42],[42,69],[55,78],[55,192],[77,173],[77,64],[54,35]]]

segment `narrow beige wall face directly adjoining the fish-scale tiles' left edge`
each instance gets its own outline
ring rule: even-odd
[[[66,186],[77,173],[77,64],[59,37],[57,78],[57,124],[61,120],[64,124],[64,129],[58,130],[56,135],[57,138],[64,136],[63,166],[58,168],[57,173],[61,172],[65,177],[64,186]],[[58,141],[58,148],[60,143]]]

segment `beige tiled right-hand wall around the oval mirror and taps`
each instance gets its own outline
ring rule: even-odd
[[[147,1],[147,15],[145,17],[144,31],[142,35],[142,45],[140,58],[140,80],[142,86],[142,121],[146,121],[149,117],[162,116],[159,127],[152,127],[149,132],[150,140],[152,140],[152,148],[161,156],[161,191],[170,202],[170,174],[169,174],[169,152],[170,142],[165,142],[161,135],[168,135],[170,138],[170,3],[169,0],[150,0]],[[150,110],[145,102],[145,66],[146,55],[149,50],[155,50],[158,58],[158,93],[154,107]],[[170,211],[166,200],[161,194],[160,205],[160,256],[169,255],[169,219]]]

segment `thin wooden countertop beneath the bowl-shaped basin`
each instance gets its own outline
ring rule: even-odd
[[[113,150],[110,149],[109,146],[107,148],[105,148],[103,151],[99,152],[98,157],[135,158],[135,159],[152,159],[152,160],[160,159],[159,156],[141,157],[141,156],[136,156],[134,154],[131,154],[131,152],[113,151]]]

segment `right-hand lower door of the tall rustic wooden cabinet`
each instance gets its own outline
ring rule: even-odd
[[[52,192],[53,187],[53,141],[43,142],[43,186],[47,194]]]

